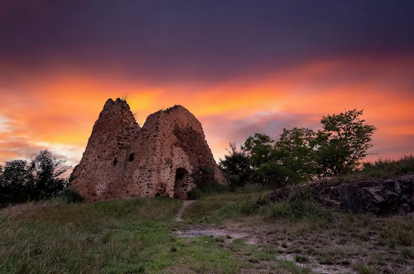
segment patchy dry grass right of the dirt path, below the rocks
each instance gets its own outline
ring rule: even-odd
[[[301,264],[342,265],[361,273],[402,273],[405,265],[414,265],[414,219],[410,217],[335,211],[303,193],[278,203],[260,200],[259,194],[208,195],[188,207],[183,219],[188,224],[228,226],[255,235],[263,231],[261,248],[236,247],[236,241],[229,248],[236,253],[245,250],[239,256],[248,256],[255,265],[272,262],[266,264],[268,269],[289,254]]]

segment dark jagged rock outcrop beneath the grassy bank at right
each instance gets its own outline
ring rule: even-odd
[[[269,195],[272,202],[286,199],[294,191],[307,191],[316,201],[351,212],[375,214],[414,212],[414,175],[388,179],[356,180],[354,182],[322,182],[289,186]]]

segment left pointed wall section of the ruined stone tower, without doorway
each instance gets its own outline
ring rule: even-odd
[[[87,201],[123,195],[125,163],[139,131],[128,104],[120,99],[106,101],[73,171],[72,185]]]

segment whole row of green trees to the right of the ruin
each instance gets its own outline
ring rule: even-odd
[[[261,133],[248,137],[237,151],[230,143],[229,155],[219,165],[233,187],[268,184],[282,187],[317,178],[347,175],[359,169],[376,131],[366,125],[356,109],[323,116],[317,132],[294,127],[283,129],[277,141]]]

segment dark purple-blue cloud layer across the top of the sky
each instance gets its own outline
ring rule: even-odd
[[[19,72],[217,82],[330,56],[406,54],[413,11],[408,0],[5,0],[0,61]]]

